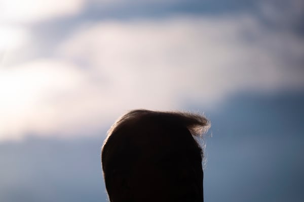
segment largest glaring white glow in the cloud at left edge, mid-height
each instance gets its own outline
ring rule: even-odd
[[[56,61],[2,67],[0,139],[18,138],[24,132],[47,132],[54,124],[50,98],[54,92],[63,93],[77,86],[80,78],[71,65]]]

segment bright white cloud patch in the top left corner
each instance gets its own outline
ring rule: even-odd
[[[81,11],[84,0],[2,0],[0,22],[38,22],[74,15]]]

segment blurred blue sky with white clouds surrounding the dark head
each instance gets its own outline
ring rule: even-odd
[[[301,0],[0,0],[0,201],[107,201],[100,148],[138,108],[211,120],[206,201],[304,201],[303,19]]]

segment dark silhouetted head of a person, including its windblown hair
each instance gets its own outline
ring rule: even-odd
[[[109,130],[101,150],[111,202],[203,201],[200,115],[134,110]]]

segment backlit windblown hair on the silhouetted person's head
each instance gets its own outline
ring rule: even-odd
[[[204,116],[193,113],[141,109],[132,110],[120,117],[108,130],[101,149],[103,176],[110,199],[112,191],[115,191],[112,190],[111,176],[117,172],[127,175],[132,169],[133,159],[136,158],[140,149],[140,143],[134,143],[137,141],[136,139],[145,138],[145,135],[153,136],[160,133],[159,131],[169,133],[169,138],[172,139],[177,131],[191,133],[193,137],[197,138],[201,137],[201,134],[205,133],[209,127],[210,122]],[[195,138],[194,141],[203,157],[199,143]]]

